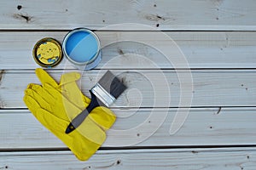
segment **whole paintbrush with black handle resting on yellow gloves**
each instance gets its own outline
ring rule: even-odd
[[[97,106],[109,107],[112,105],[125,89],[126,86],[120,82],[111,71],[107,71],[99,82],[90,89],[90,104],[69,123],[65,133],[71,133],[74,129],[79,127],[79,125],[84,122],[86,116],[90,114],[90,111]]]

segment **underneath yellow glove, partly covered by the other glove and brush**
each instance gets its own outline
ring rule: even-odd
[[[90,104],[90,99],[82,94],[77,82],[80,79],[78,72],[69,72],[61,76],[61,82],[58,84],[49,76],[49,74],[41,68],[36,69],[36,75],[43,86],[45,83],[50,84],[55,89],[59,90],[73,105],[77,105],[81,110],[84,110]],[[67,113],[70,121],[77,115]],[[113,111],[106,107],[96,107],[89,114],[90,118],[94,120],[103,129],[108,130],[115,122],[116,116]]]

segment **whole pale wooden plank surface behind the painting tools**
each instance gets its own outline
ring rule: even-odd
[[[0,169],[254,170],[255,8],[254,0],[1,1]],[[131,129],[151,113],[167,112],[164,122],[160,116],[150,120],[152,127],[145,131],[124,135],[108,131],[102,149],[85,162],[78,161],[40,125],[22,101],[26,85],[38,83],[33,73],[38,67],[32,59],[35,42],[43,37],[62,42],[67,31],[80,26],[102,29],[96,31],[102,46],[113,42],[102,48],[100,65],[84,72],[84,94],[89,95],[88,89],[104,71],[125,72],[119,77],[130,89],[113,105],[118,116],[113,130]],[[157,36],[160,31],[177,46]],[[124,38],[154,42],[159,49],[171,52],[180,48],[189,68],[181,65],[177,71],[188,73],[193,69],[194,89],[189,92],[193,94],[192,105],[179,105],[177,68],[156,47],[136,41],[118,42]],[[59,80],[63,72],[71,70],[73,66],[63,59],[61,65],[48,71]],[[167,86],[161,83],[161,76],[166,77]],[[185,85],[189,87],[189,83]],[[164,98],[154,104],[154,94],[169,99],[166,87],[171,103],[161,103]],[[177,107],[185,110],[190,106],[193,108],[183,127],[170,135]],[[149,137],[144,140],[144,136]],[[131,139],[143,140],[126,150],[125,142]]]

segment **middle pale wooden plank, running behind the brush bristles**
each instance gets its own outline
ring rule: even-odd
[[[49,71],[59,80],[65,71]],[[85,95],[105,73],[84,72],[82,86]],[[255,106],[256,72],[254,70],[233,71],[192,71],[192,82],[181,84],[176,71],[163,70],[114,70],[114,74],[128,86],[113,107],[189,107],[189,106]],[[188,76],[187,71],[179,71],[180,77]],[[19,82],[19,83],[15,83]],[[29,83],[38,83],[34,71],[5,71],[0,84],[1,108],[26,108],[22,101],[24,90]],[[181,88],[183,86],[183,89]],[[190,86],[193,85],[193,91]],[[189,91],[191,89],[191,91]],[[169,90],[169,92],[168,92]],[[183,95],[181,94],[183,90]],[[14,93],[15,92],[15,93]],[[192,97],[193,93],[193,97]],[[181,102],[192,98],[192,104]]]

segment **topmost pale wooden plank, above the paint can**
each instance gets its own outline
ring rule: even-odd
[[[140,23],[161,30],[256,30],[253,0],[30,0],[1,1],[0,7],[0,29],[99,29]]]

